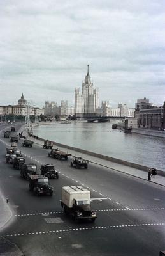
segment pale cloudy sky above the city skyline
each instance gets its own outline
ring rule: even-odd
[[[108,100],[165,101],[164,0],[0,0],[0,105],[74,106],[89,73]]]

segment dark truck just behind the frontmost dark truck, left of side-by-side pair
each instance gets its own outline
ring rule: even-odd
[[[20,177],[29,180],[30,175],[39,175],[36,164],[23,164],[20,167]]]

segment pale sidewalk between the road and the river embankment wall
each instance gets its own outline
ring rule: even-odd
[[[38,144],[38,145],[43,145],[43,141],[41,140],[37,140],[33,137],[29,137],[30,140],[34,141],[34,143]],[[54,145],[55,148],[55,145]],[[68,151],[69,153],[71,153],[73,156],[81,156],[84,159],[88,159],[90,161],[90,163],[95,163],[95,164],[100,164],[101,166],[105,166],[108,168],[111,168],[117,172],[122,172],[122,173],[127,173],[128,175],[134,176],[134,177],[138,177],[140,179],[144,179],[144,180],[148,180],[148,172],[145,172],[143,170],[140,169],[136,169],[136,168],[132,168],[123,164],[118,164],[118,163],[114,163],[111,161],[106,161],[104,159],[98,158],[98,157],[94,157],[94,156],[90,156],[87,154],[83,154],[80,152],[76,152],[74,150],[67,150],[67,148],[64,147],[59,147],[57,146],[57,148],[60,148],[63,151]],[[161,175],[155,175],[154,177],[151,177],[150,182],[153,182],[155,184],[159,184],[161,186],[165,186],[165,176],[161,176]]]

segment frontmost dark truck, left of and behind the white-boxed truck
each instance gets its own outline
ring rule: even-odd
[[[49,186],[48,177],[44,175],[29,175],[29,190],[33,191],[34,195],[53,195],[54,188]]]

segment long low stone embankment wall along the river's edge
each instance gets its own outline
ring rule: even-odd
[[[45,141],[45,139],[39,138],[39,137],[38,137],[38,140]],[[54,142],[54,141],[53,141],[53,142]],[[117,158],[110,157],[110,156],[104,156],[104,155],[102,155],[102,154],[97,154],[97,153],[94,153],[94,152],[90,152],[90,151],[87,151],[87,150],[83,150],[83,149],[81,149],[81,148],[71,147],[71,146],[64,145],[64,144],[57,143],[57,142],[54,142],[54,145],[55,145],[55,146],[58,146],[58,147],[67,148],[67,149],[70,149],[70,150],[75,150],[75,151],[77,151],[77,152],[81,152],[81,153],[87,154],[87,155],[89,155],[89,156],[98,157],[98,158],[100,158],[100,159],[104,159],[104,160],[106,160],[106,161],[111,161],[111,162],[113,162],[113,163],[124,164],[125,166],[129,166],[129,167],[132,167],[132,168],[135,168],[135,169],[143,170],[143,171],[145,171],[145,172],[148,172],[149,168],[151,168],[151,167],[143,166],[143,165],[140,165],[140,164],[136,164],[136,163],[131,163],[131,162],[128,162],[128,161],[124,161],[124,160],[122,160],[122,159],[117,159]],[[154,166],[152,166],[152,167],[154,167]],[[165,176],[165,172],[163,172],[162,170],[157,170],[157,174],[162,175],[162,176]]]

